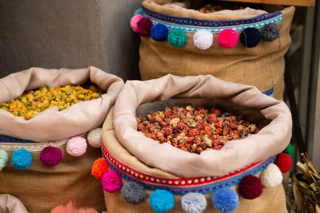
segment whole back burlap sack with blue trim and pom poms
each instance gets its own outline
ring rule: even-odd
[[[131,19],[141,36],[142,80],[211,74],[283,99],[294,7],[202,13],[197,7],[188,9],[188,1],[176,2],[146,0],[141,14]]]

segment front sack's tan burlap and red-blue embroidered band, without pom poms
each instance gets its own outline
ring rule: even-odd
[[[231,188],[237,192],[237,187],[239,184],[238,178],[243,178],[244,176],[254,174],[257,177],[260,177],[263,169],[267,167],[268,163],[271,163],[275,160],[275,157],[271,157],[267,160],[260,161],[250,165],[246,169],[242,169],[240,172],[235,174],[225,175],[217,179],[211,179],[211,177],[198,177],[198,178],[181,178],[170,173],[167,173],[163,170],[149,167],[145,163],[141,162],[138,158],[128,152],[120,143],[116,137],[116,133],[112,123],[113,117],[113,108],[109,111],[107,119],[102,128],[102,151],[103,155],[108,163],[108,166],[111,170],[117,171],[121,178],[123,184],[129,182],[138,182],[139,184],[145,187],[145,192],[147,198],[143,203],[139,205],[132,205],[124,200],[121,192],[108,193],[104,191],[105,203],[108,213],[140,213],[140,212],[154,212],[149,204],[149,198],[152,192],[156,188],[169,189],[169,191],[174,190],[178,192],[179,190],[186,189],[188,186],[181,185],[181,182],[192,181],[193,184],[189,184],[188,188],[196,190],[196,192],[206,192],[203,193],[204,197],[207,199],[207,208],[203,211],[204,213],[215,212],[218,213],[211,204],[212,188],[219,188],[219,185],[223,185],[220,188],[226,187],[231,183]],[[132,141],[134,143],[136,141]],[[258,170],[259,169],[259,170]],[[208,180],[211,181],[208,181]],[[224,181],[222,181],[224,179]],[[161,182],[158,183],[157,180]],[[195,180],[198,180],[198,185],[194,184]],[[204,180],[203,182],[201,182]],[[232,181],[236,180],[235,183]],[[167,184],[163,184],[162,181],[165,181]],[[179,186],[168,184],[171,181],[174,184],[175,181],[179,182]],[[210,188],[210,192],[207,192],[205,188]],[[191,192],[191,190],[190,190]],[[183,194],[186,193],[184,190],[183,193],[175,194],[174,200],[175,205],[172,210],[168,212],[185,212],[181,208],[181,198]],[[238,193],[238,192],[237,192]],[[239,193],[238,193],[239,194]],[[253,200],[244,199],[239,195],[239,206],[233,211],[235,213],[247,213],[247,212],[275,212],[275,213],[285,213],[286,210],[286,201],[285,193],[282,184],[279,184],[275,187],[263,188],[262,194]]]

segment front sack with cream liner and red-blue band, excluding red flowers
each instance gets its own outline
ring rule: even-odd
[[[263,119],[271,122],[256,135],[241,141],[228,141],[221,150],[206,150],[199,155],[174,148],[168,143],[155,143],[136,130],[135,116],[139,105],[168,104],[196,98],[218,99],[216,103],[256,109]],[[230,110],[233,108],[228,106],[231,106]],[[154,108],[156,110],[159,107]],[[247,114],[249,116],[250,113]],[[139,205],[132,205],[126,202],[128,197],[123,192],[110,193],[103,186],[107,210],[109,213],[153,212],[152,194],[165,190],[174,195],[175,204],[169,212],[184,212],[181,199],[189,193],[199,193],[205,197],[207,207],[203,212],[219,212],[211,204],[211,197],[220,190],[231,188],[239,198],[239,205],[233,212],[286,212],[282,174],[273,162],[277,154],[287,147],[291,127],[291,114],[287,106],[282,101],[265,96],[253,86],[221,81],[210,75],[167,75],[148,81],[127,81],[103,125],[102,151],[109,169],[121,177],[123,187],[127,182],[140,184],[144,187],[146,199]],[[276,167],[277,172],[271,174],[271,169],[266,169],[269,167]],[[250,175],[260,178],[264,185],[262,194],[253,200],[244,199],[238,191],[241,181]],[[273,184],[268,184],[268,181]]]

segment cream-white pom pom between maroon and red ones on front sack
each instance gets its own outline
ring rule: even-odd
[[[260,176],[262,185],[267,188],[275,187],[282,183],[283,176],[277,165],[270,163],[267,168],[263,170]]]

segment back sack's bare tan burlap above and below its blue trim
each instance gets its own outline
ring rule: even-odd
[[[143,7],[158,13],[209,20],[237,20],[255,15],[202,14],[190,10],[176,10],[151,4],[168,1],[148,0]],[[175,48],[168,41],[157,42],[151,37],[141,37],[140,74],[142,80],[156,79],[167,74],[176,76],[197,76],[211,74],[225,81],[256,86],[260,91],[273,87],[273,98],[283,99],[284,54],[291,44],[289,35],[294,7],[281,11],[283,21],[279,23],[281,35],[267,42],[261,40],[255,48],[246,49],[240,39],[232,49],[222,48],[213,34],[214,43],[208,50],[199,50],[193,44],[193,33],[187,33],[187,43]],[[240,33],[238,33],[240,34]]]

